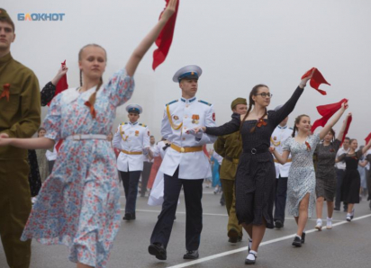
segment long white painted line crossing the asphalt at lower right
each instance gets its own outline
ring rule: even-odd
[[[371,214],[367,214],[367,215],[352,219],[352,221],[356,221],[356,220],[359,220],[359,219],[365,219],[365,218],[368,218],[368,217],[371,217]],[[339,226],[339,225],[346,224],[346,223],[348,223],[348,221],[343,220],[343,221],[340,221],[338,223],[333,224],[332,227]],[[316,229],[311,229],[309,231],[305,231],[305,233],[310,234],[310,233],[313,233],[315,231],[317,231],[317,230]],[[276,242],[279,242],[279,241],[283,241],[283,240],[286,240],[286,239],[289,239],[289,238],[293,238],[294,236],[295,235],[290,235],[290,236],[279,237],[279,238],[276,238],[276,239],[268,240],[266,242],[261,243],[260,246],[265,246],[265,245],[269,245],[269,244],[276,243]],[[235,254],[235,253],[239,253],[241,251],[247,251],[248,249],[249,249],[249,246],[244,246],[244,247],[240,247],[238,249],[225,251],[225,252],[222,252],[222,253],[216,254],[216,255],[210,255],[210,256],[207,256],[207,257],[195,260],[195,261],[187,262],[187,263],[184,263],[184,264],[176,264],[174,266],[168,266],[167,268],[183,268],[183,267],[192,266],[194,264],[201,264],[201,263],[211,261],[213,259],[220,258],[220,257],[226,256],[226,255],[232,255],[232,254]]]

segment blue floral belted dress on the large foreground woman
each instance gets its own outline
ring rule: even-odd
[[[116,107],[131,98],[134,80],[122,69],[98,91],[92,118],[84,104],[95,87],[75,99],[77,89],[58,94],[44,120],[46,138],[74,134],[109,134]],[[65,139],[53,171],[42,184],[38,200],[23,231],[22,240],[36,238],[46,245],[70,248],[69,259],[105,267],[113,239],[120,228],[120,190],[116,161],[104,139]]]

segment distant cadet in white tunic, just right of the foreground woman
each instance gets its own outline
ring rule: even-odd
[[[113,147],[121,150],[117,158],[117,168],[122,177],[126,205],[122,219],[135,219],[135,205],[138,195],[140,173],[143,171],[144,157],[149,154],[149,128],[138,122],[142,108],[138,104],[126,107],[129,122],[121,123],[113,136]]]

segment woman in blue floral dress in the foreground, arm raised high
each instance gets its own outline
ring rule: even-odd
[[[175,12],[170,0],[156,26],[134,50],[125,68],[106,85],[102,76],[105,50],[87,45],[80,50],[81,86],[69,88],[51,102],[44,120],[45,138],[8,138],[0,146],[50,148],[64,139],[49,178],[23,231],[22,240],[69,247],[69,260],[77,268],[105,267],[114,237],[120,228],[120,190],[113,148],[106,140],[116,108],[134,90],[133,75],[168,19]],[[84,82],[84,83],[83,83]]]

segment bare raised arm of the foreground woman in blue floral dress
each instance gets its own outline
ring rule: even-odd
[[[159,33],[167,24],[167,21],[176,12],[176,2],[177,0],[170,0],[170,2],[167,4],[166,10],[164,13],[162,13],[162,16],[156,26],[149,31],[149,34],[147,34],[147,36],[140,42],[140,45],[131,54],[131,58],[129,58],[129,61],[126,64],[126,72],[129,76],[134,76],[135,70],[140,64],[141,58],[144,57],[149,48],[158,38]]]

